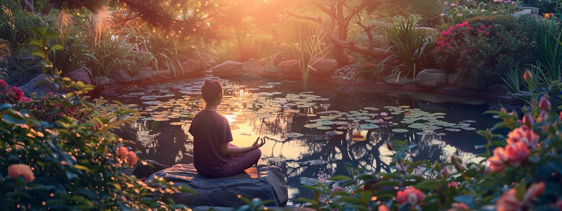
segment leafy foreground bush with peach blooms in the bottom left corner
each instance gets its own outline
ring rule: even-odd
[[[45,37],[48,32],[39,29],[38,33]],[[84,106],[97,110],[82,97],[94,87],[58,77],[58,72],[49,82],[71,91],[65,98],[48,98],[42,105],[50,107],[47,113],[61,115],[56,125],[38,120],[28,110],[0,104],[0,209],[187,209],[170,199],[162,202],[160,197],[180,192],[163,178],[146,184],[119,173],[119,168],[132,167],[138,158],[130,153],[127,159],[117,158],[112,151],[123,140],[100,131],[111,119],[128,119],[138,111],[116,102],[119,107],[111,114],[93,118],[99,130],[92,129],[94,124],[73,118],[73,113]],[[188,188],[181,191],[193,192]]]

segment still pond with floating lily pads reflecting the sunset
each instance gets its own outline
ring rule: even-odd
[[[287,173],[289,205],[293,199],[312,197],[303,184],[318,178],[347,174],[346,164],[388,172],[386,142],[409,140],[418,144],[412,160],[445,162],[455,155],[464,161],[483,153],[475,145],[486,140],[475,130],[497,123],[482,113],[500,105],[497,100],[392,88],[342,87],[301,81],[251,82],[213,78],[225,93],[219,113],[228,118],[237,146],[250,146],[266,137],[260,163],[276,165]],[[174,165],[192,163],[191,118],[204,102],[204,79],[186,79],[108,89],[107,100],[138,104],[147,114],[115,131],[141,159]],[[306,90],[304,90],[306,89]],[[282,107],[279,102],[285,102]],[[385,116],[387,114],[387,116]],[[360,133],[361,137],[356,133]]]

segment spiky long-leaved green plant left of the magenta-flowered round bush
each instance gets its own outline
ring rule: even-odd
[[[416,29],[413,19],[393,24],[387,29],[387,36],[391,43],[389,51],[397,52],[389,56],[387,61],[397,61],[394,74],[413,77],[433,65],[432,51],[435,42],[432,37],[426,37],[421,29]]]

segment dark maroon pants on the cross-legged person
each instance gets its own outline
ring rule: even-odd
[[[228,143],[229,147],[237,147],[232,143]],[[222,169],[219,170],[219,174],[215,177],[230,177],[236,174],[244,172],[244,170],[256,165],[257,161],[260,160],[261,150],[255,149],[242,154],[233,155],[228,161],[228,164],[224,165]]]

